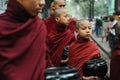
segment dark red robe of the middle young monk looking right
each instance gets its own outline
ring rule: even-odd
[[[47,42],[50,49],[49,54],[55,66],[60,66],[63,48],[74,41],[74,39],[74,34],[66,26],[56,24],[50,31]]]

